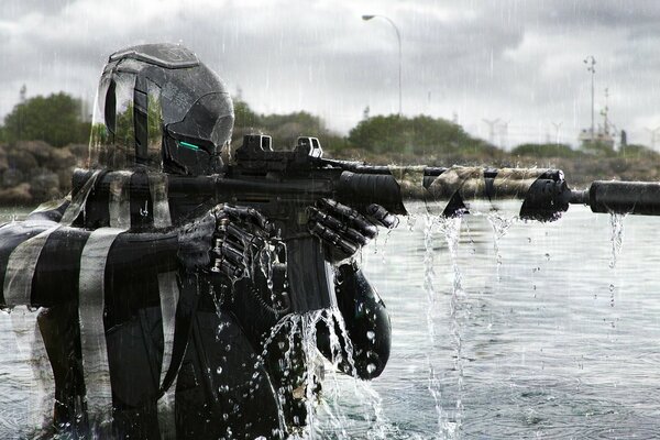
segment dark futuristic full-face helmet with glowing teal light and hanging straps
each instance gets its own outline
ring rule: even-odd
[[[176,44],[110,55],[97,90],[89,165],[184,175],[222,166],[234,114],[224,84]]]

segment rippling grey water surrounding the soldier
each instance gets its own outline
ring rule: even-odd
[[[660,248],[649,239],[660,219],[623,219],[614,268],[618,232],[609,216],[583,207],[554,223],[515,222],[497,251],[486,216],[466,217],[454,260],[433,227],[430,268],[424,223],[404,221],[377,254],[363,253],[392,315],[392,358],[370,384],[326,374],[316,438],[657,437]],[[0,438],[30,432],[43,410],[10,330],[0,315]],[[452,435],[441,424],[459,421],[458,402]]]

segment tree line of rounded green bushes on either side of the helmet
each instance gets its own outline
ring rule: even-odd
[[[23,99],[4,117],[0,125],[0,141],[41,140],[61,147],[87,143],[91,130],[88,118],[82,117],[81,100],[65,92]],[[594,157],[628,156],[656,157],[644,145],[627,145],[625,151],[614,151],[604,145],[582,145],[572,148],[566,144],[525,143],[505,153],[488,142],[474,138],[457,123],[428,116],[373,116],[365,111],[363,119],[348,135],[329,130],[318,116],[306,111],[287,114],[261,114],[239,97],[234,99],[235,124],[233,143],[239,145],[243,134],[265,133],[273,136],[275,145],[293,146],[300,135],[321,140],[324,150],[336,155],[367,154],[398,157],[470,156],[485,162],[493,157]]]

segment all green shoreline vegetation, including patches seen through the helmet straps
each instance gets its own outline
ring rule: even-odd
[[[160,114],[151,114],[150,150],[160,154],[162,124]],[[116,141],[133,136],[132,111],[118,116]],[[447,166],[539,166],[564,169],[570,182],[579,184],[596,178],[660,179],[660,154],[644,145],[626,145],[614,150],[608,144],[585,143],[579,148],[566,144],[525,143],[510,152],[473,138],[459,124],[428,116],[370,116],[365,110],[348,135],[329,130],[324,121],[306,111],[288,114],[260,114],[243,101],[234,99],[235,125],[233,146],[241,145],[248,133],[273,136],[276,148],[288,148],[301,135],[320,139],[328,156],[364,160],[372,163],[408,163]],[[0,127],[0,141],[42,140],[54,146],[86,143],[90,124],[80,120],[80,102],[63,92],[35,97],[16,105]],[[95,128],[97,138],[106,140],[105,127]],[[153,145],[152,145],[153,144]]]

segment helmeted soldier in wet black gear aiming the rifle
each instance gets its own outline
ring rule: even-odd
[[[288,315],[273,226],[253,209],[167,197],[168,175],[222,173],[232,128],[224,85],[190,51],[117,52],[99,82],[92,172],[75,195],[0,228],[0,305],[42,307],[57,432],[286,438],[305,424],[300,339],[273,343]],[[367,219],[332,200],[309,212],[337,267],[350,338],[340,338],[342,351],[353,346],[354,363],[344,355],[340,366],[375,377],[389,355],[389,318],[351,257],[396,219]],[[262,271],[264,255],[272,271]],[[330,332],[319,327],[327,356]]]

